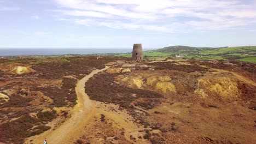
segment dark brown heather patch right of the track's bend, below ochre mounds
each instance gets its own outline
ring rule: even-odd
[[[133,89],[130,87],[118,85],[117,83],[113,82],[114,77],[117,75],[118,74],[106,73],[98,74],[86,82],[86,93],[89,95],[90,99],[119,104],[121,107],[126,109],[132,109],[130,105],[132,101],[135,101],[136,99],[154,99],[163,97],[161,94],[152,91],[147,91],[144,89]],[[136,93],[136,97],[132,97],[132,94],[134,93]],[[148,101],[153,102],[154,100]],[[156,104],[152,103],[150,105],[150,103],[145,105],[141,103],[141,105],[146,107],[149,105],[150,107],[148,108],[152,109]]]

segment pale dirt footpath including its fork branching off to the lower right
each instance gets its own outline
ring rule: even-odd
[[[77,87],[75,87],[75,92],[77,93],[77,105],[74,109],[70,111],[72,117],[68,118],[66,122],[62,123],[55,130],[45,131],[45,133],[30,137],[25,143],[30,143],[29,140],[33,140],[32,143],[42,143],[44,138],[48,140],[49,143],[73,143],[80,139],[81,136],[95,136],[95,116],[104,114],[108,119],[112,119],[113,125],[116,128],[123,129],[125,131],[125,139],[127,142],[131,143],[130,135],[141,135],[138,134],[138,130],[143,130],[143,127],[138,127],[131,121],[126,121],[126,119],[131,118],[126,112],[113,112],[106,108],[109,106],[118,107],[116,105],[104,106],[98,101],[93,101],[89,99],[89,96],[85,93],[85,82],[101,71],[108,69],[106,67],[101,70],[94,70],[89,75],[86,75],[83,79],[79,80]],[[87,127],[87,128],[86,128]],[[90,128],[91,129],[88,129]],[[136,133],[134,132],[136,131]],[[141,135],[142,136],[142,135]],[[98,140],[97,140],[98,141]],[[98,141],[98,143],[103,143],[103,141]],[[139,143],[149,143],[148,140],[141,139]]]

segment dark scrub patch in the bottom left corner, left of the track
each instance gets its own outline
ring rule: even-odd
[[[38,135],[46,130],[49,130],[51,127],[45,125],[38,125],[37,127],[33,128],[33,126],[36,125],[36,123],[46,121],[48,119],[52,119],[53,117],[55,117],[52,115],[49,117],[47,114],[44,116],[47,118],[34,118],[29,115],[25,115],[18,119],[15,119],[14,121],[1,124],[0,142],[24,143],[24,139],[26,137]]]

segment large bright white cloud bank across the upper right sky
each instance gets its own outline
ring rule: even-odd
[[[256,23],[255,2],[246,4],[242,0],[54,1],[60,6],[55,12],[73,16],[74,23],[85,26],[187,32],[229,29]]]

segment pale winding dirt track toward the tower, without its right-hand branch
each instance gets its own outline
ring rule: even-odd
[[[89,75],[79,80],[75,87],[78,100],[77,105],[75,105],[74,109],[71,111],[72,117],[68,118],[66,122],[62,123],[55,130],[40,134],[33,140],[33,143],[42,143],[44,137],[46,137],[49,143],[73,143],[78,140],[86,123],[95,115],[95,109],[93,109],[95,103],[93,103],[85,93],[85,82],[88,81],[90,77],[108,68],[109,67],[93,70]]]

